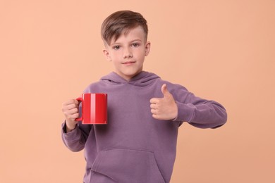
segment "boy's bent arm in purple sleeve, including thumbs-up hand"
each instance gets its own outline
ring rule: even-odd
[[[154,118],[188,122],[190,125],[200,128],[220,127],[227,120],[226,110],[220,103],[200,99],[184,87],[171,85],[170,93],[164,84],[161,87],[161,92],[164,94],[164,98],[154,98],[150,101]]]

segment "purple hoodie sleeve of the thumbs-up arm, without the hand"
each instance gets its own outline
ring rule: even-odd
[[[200,128],[216,128],[226,123],[226,109],[220,103],[201,99],[184,87],[175,89],[172,94],[178,106],[175,120]]]

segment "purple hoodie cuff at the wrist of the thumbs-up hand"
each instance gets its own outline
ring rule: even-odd
[[[191,103],[180,103],[176,101],[178,106],[178,116],[174,119],[175,121],[190,122],[195,114],[195,106]]]

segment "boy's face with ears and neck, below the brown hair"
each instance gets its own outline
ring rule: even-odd
[[[150,42],[145,39],[145,32],[142,27],[133,28],[116,41],[111,40],[110,45],[105,44],[104,55],[107,61],[114,64],[115,72],[129,81],[142,71],[145,56],[149,54]]]

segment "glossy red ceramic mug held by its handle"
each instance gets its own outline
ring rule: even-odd
[[[87,125],[107,124],[107,94],[82,94],[76,100],[82,103],[82,116],[76,121]]]

